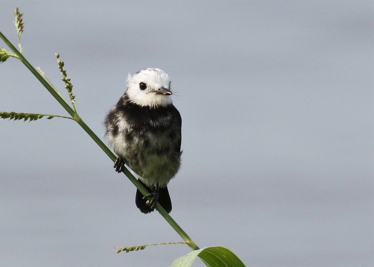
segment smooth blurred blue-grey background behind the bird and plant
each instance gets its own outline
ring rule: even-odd
[[[126,76],[165,70],[183,118],[172,217],[246,266],[373,265],[371,1],[1,1],[0,30],[103,139]],[[2,42],[1,46],[4,46]],[[15,59],[0,110],[66,112]],[[0,121],[0,266],[169,266],[180,241],[73,121]],[[107,141],[105,140],[105,143]],[[196,266],[202,266],[197,263]]]

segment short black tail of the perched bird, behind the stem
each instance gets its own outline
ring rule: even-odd
[[[153,188],[149,188],[145,185],[142,181],[138,179],[138,181],[147,189],[149,193],[153,192]],[[157,202],[165,209],[166,212],[171,212],[171,199],[169,196],[168,187],[159,188],[159,198]],[[143,194],[137,190],[137,194],[135,196],[135,203],[137,204],[138,209],[144,214],[150,213],[154,211],[149,205],[147,205],[147,199],[143,199]]]

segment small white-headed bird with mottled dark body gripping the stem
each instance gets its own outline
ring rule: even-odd
[[[117,154],[116,172],[127,165],[150,192],[143,196],[137,189],[135,195],[144,214],[154,211],[156,202],[171,212],[168,183],[181,166],[182,119],[170,85],[159,68],[128,74],[125,93],[105,117],[105,135]]]

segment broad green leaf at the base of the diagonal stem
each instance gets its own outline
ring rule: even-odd
[[[209,267],[245,267],[244,263],[233,252],[223,246],[194,250],[177,258],[170,267],[190,267],[197,256]]]

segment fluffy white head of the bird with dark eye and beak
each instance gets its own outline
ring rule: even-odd
[[[172,104],[169,75],[159,68],[146,68],[127,76],[127,90],[131,102],[142,107],[165,107]]]

